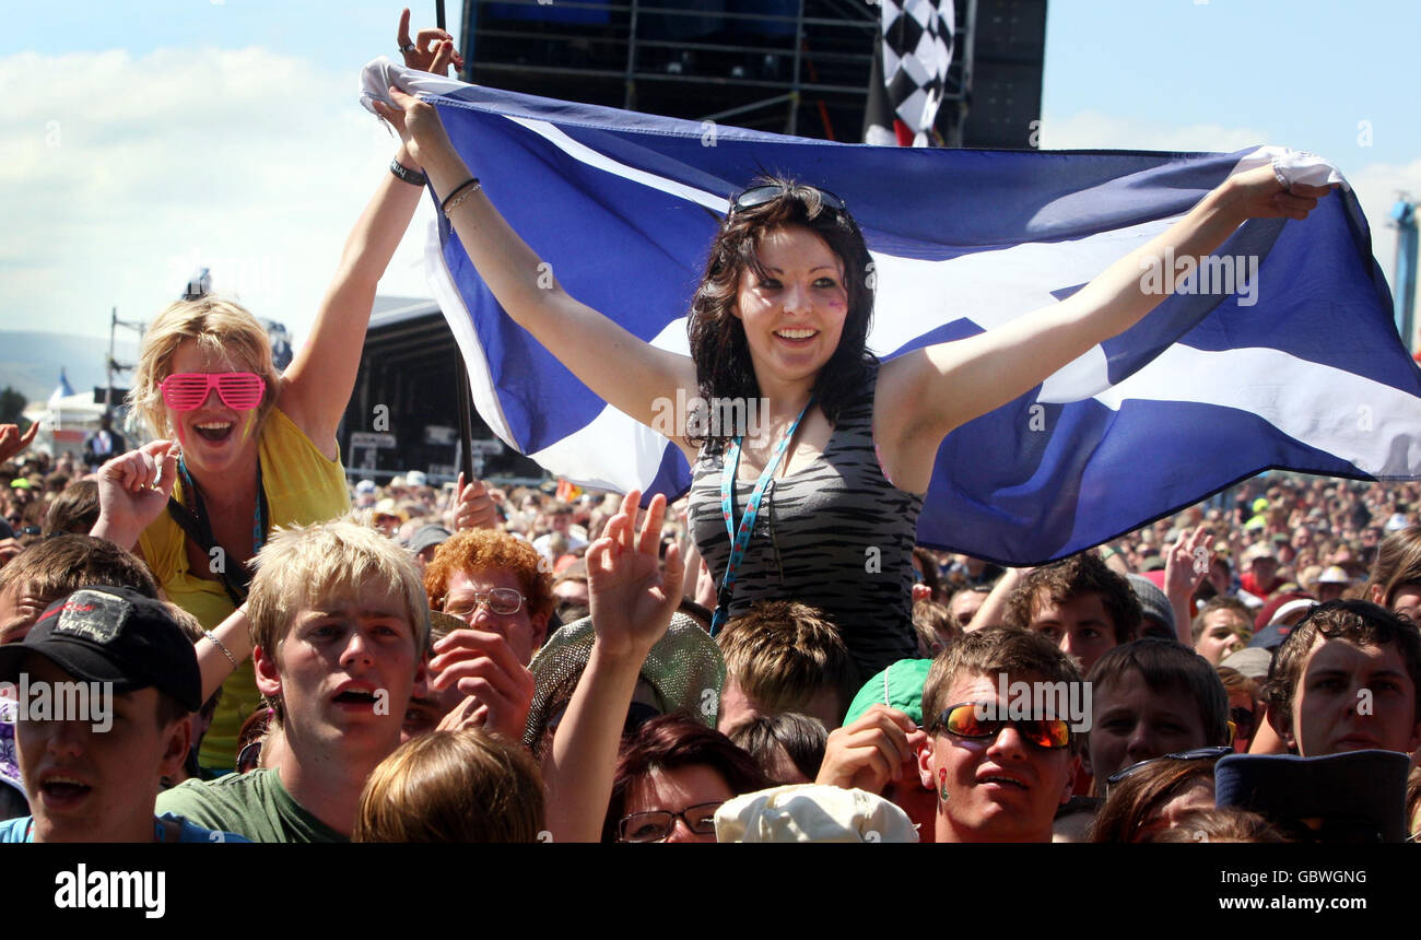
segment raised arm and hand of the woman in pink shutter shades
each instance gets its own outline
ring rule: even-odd
[[[418,43],[409,40],[409,10],[401,16],[398,43],[411,68],[442,75],[458,60],[453,37],[442,30],[421,30]],[[422,169],[404,145],[395,160],[414,173]],[[389,267],[422,195],[422,185],[406,183],[392,172],[382,175],[375,196],[345,240],[311,335],[281,379],[281,410],[331,460],[337,452],[335,427],[355,389],[365,328],[375,305],[375,287]]]

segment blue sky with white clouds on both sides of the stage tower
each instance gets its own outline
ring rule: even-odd
[[[432,1],[414,10],[433,24]],[[0,204],[23,222],[0,231],[0,329],[107,334],[109,305],[151,317],[202,258],[300,341],[392,151],[355,89],[367,60],[394,54],[398,16],[368,0],[67,0],[11,17]],[[1053,0],[1042,145],[1323,153],[1390,277],[1394,190],[1421,195],[1418,27],[1414,0]],[[428,219],[382,293],[426,295]]]

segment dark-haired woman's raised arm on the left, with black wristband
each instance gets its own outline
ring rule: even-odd
[[[398,108],[377,101],[375,109],[423,163],[435,193],[450,202],[459,241],[514,322],[603,400],[644,425],[657,427],[657,419],[665,415],[658,400],[675,400],[676,389],[695,395],[696,372],[689,356],[658,349],[570,297],[482,187],[466,186],[476,173],[449,143],[435,106],[396,88],[389,94]]]

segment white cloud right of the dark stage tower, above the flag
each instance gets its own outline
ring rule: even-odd
[[[1358,138],[1360,139],[1360,138]],[[1042,121],[1043,149],[1128,149],[1128,151],[1204,151],[1232,153],[1262,143],[1279,143],[1268,129],[1226,128],[1216,124],[1165,126],[1114,118],[1096,111]],[[1358,148],[1358,153],[1366,153]],[[1361,210],[1371,226],[1373,256],[1381,264],[1387,283],[1395,290],[1397,234],[1391,227],[1391,207],[1397,192],[1421,197],[1421,159],[1395,166],[1390,163],[1360,163],[1354,153],[1324,153],[1343,165],[1347,180],[1357,193]],[[1358,166],[1360,169],[1351,169]]]

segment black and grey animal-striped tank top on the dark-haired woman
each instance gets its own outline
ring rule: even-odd
[[[847,408],[824,453],[766,486],[729,616],[755,601],[800,601],[838,626],[864,679],[917,656],[912,545],[922,496],[888,481],[874,449],[874,386]],[[723,450],[708,443],[692,467],[691,531],[719,588],[730,559],[720,513]],[[736,480],[735,524],[755,484]]]

